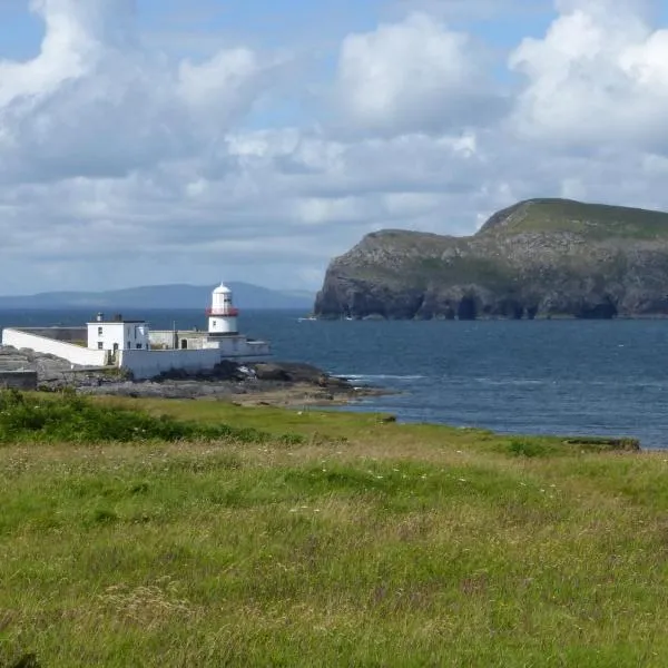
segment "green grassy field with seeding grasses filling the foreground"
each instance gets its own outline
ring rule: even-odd
[[[0,405],[0,666],[668,664],[668,454],[50,401]]]

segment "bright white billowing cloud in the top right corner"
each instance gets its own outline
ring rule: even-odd
[[[668,148],[668,30],[652,30],[636,0],[560,0],[541,39],[510,67],[527,86],[517,131],[562,149]],[[644,11],[645,10],[645,11]]]

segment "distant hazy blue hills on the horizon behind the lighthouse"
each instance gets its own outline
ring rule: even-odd
[[[315,295],[281,291],[249,283],[226,283],[239,308],[293,308],[311,311]],[[9,308],[206,308],[215,285],[146,285],[106,292],[50,292],[23,296],[0,296],[0,310]]]

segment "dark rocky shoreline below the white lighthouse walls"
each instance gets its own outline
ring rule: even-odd
[[[116,367],[72,367],[53,355],[0,346],[0,371],[36,371],[38,389],[45,392],[72,387],[85,395],[215,399],[243,405],[341,405],[386,393],[297,362],[223,361],[208,373],[175,371],[136,382]]]

